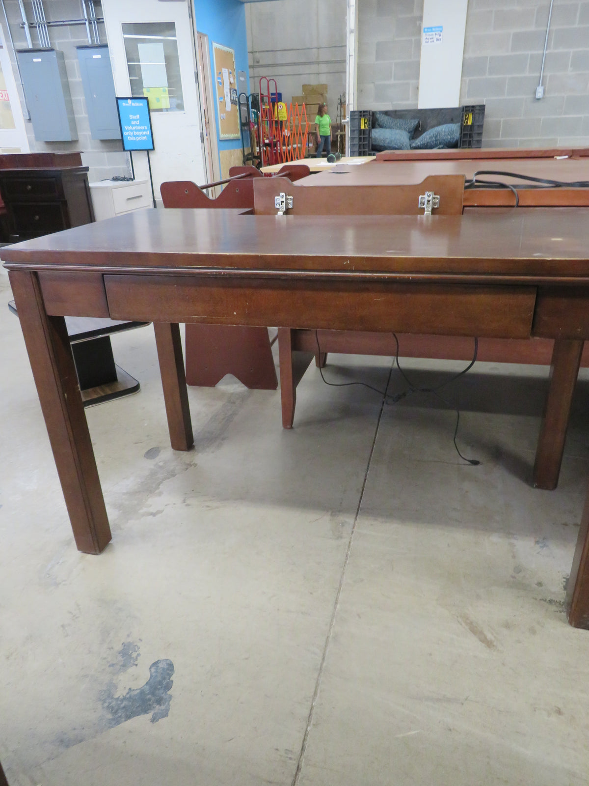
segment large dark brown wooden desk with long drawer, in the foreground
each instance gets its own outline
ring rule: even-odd
[[[589,336],[586,209],[427,221],[147,210],[7,247],[2,258],[75,541],[87,553],[100,553],[111,532],[64,314],[155,323],[176,450],[192,447],[179,322],[540,335],[563,347]],[[588,531],[586,506],[568,594],[569,621],[581,627]]]

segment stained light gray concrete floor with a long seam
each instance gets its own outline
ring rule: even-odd
[[[75,550],[0,274],[0,761],[11,786],[569,786],[589,772],[589,632],[563,602],[589,477],[587,373],[561,483],[529,485],[547,369],[477,364],[455,414],[313,367],[190,389],[170,450],[141,392],[87,411],[113,540]],[[391,358],[331,356],[383,387]],[[420,380],[462,364],[406,361]],[[430,369],[430,370],[427,370]],[[403,385],[392,374],[390,390]]]

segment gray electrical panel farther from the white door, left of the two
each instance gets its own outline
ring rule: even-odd
[[[42,142],[77,139],[64,53],[53,49],[18,50],[16,58],[35,139]]]

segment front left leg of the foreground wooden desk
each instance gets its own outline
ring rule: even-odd
[[[47,316],[37,274],[9,277],[75,545],[99,554],[111,530],[65,320]]]

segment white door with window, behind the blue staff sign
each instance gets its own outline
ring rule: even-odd
[[[206,182],[189,2],[102,0],[116,94],[149,99],[156,200],[166,180]],[[135,177],[148,178],[147,153],[133,161]]]

